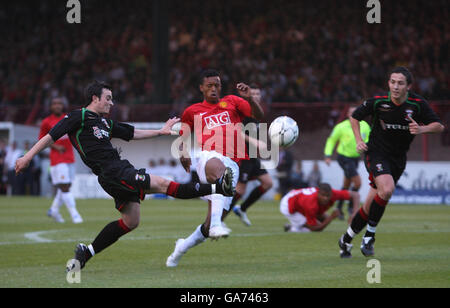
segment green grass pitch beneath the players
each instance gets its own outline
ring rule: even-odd
[[[337,241],[346,230],[333,221],[325,231],[283,232],[277,202],[258,202],[248,212],[253,225],[234,214],[228,239],[190,250],[177,268],[165,262],[177,238],[202,223],[200,200],[147,200],[138,229],[91,259],[81,283],[66,281],[65,265],[78,242],[91,243],[118,219],[112,200],[77,200],[85,222],[65,224],[46,216],[44,198],[0,198],[0,287],[450,287],[450,207],[388,205],[378,227],[376,258],[381,283],[367,282],[369,259],[354,240],[353,258],[341,260]]]

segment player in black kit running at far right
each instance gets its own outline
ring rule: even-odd
[[[371,188],[366,202],[353,217],[347,232],[339,239],[342,258],[351,257],[350,243],[366,225],[361,252],[364,256],[374,255],[376,227],[405,170],[406,153],[411,142],[415,135],[440,133],[444,130],[428,103],[409,91],[412,79],[408,69],[393,69],[389,74],[388,95],[366,100],[350,119],[357,150],[359,153],[365,152],[364,162]],[[372,116],[372,131],[366,144],[361,138],[359,121],[367,116]]]

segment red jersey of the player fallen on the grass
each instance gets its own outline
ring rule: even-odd
[[[289,192],[288,199],[289,213],[298,212],[306,217],[306,224],[315,226],[317,216],[322,215],[333,206],[336,200],[350,200],[350,193],[347,190],[332,189],[330,202],[326,206],[319,206],[317,200],[318,189],[314,187],[296,189]]]

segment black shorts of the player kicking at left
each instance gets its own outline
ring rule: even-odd
[[[98,177],[102,188],[114,198],[118,211],[128,202],[140,203],[150,189],[150,175],[145,169],[136,170],[128,161],[122,162]]]

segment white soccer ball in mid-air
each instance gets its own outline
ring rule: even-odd
[[[287,148],[298,138],[298,125],[294,119],[281,116],[273,120],[269,127],[269,137],[274,144]]]

